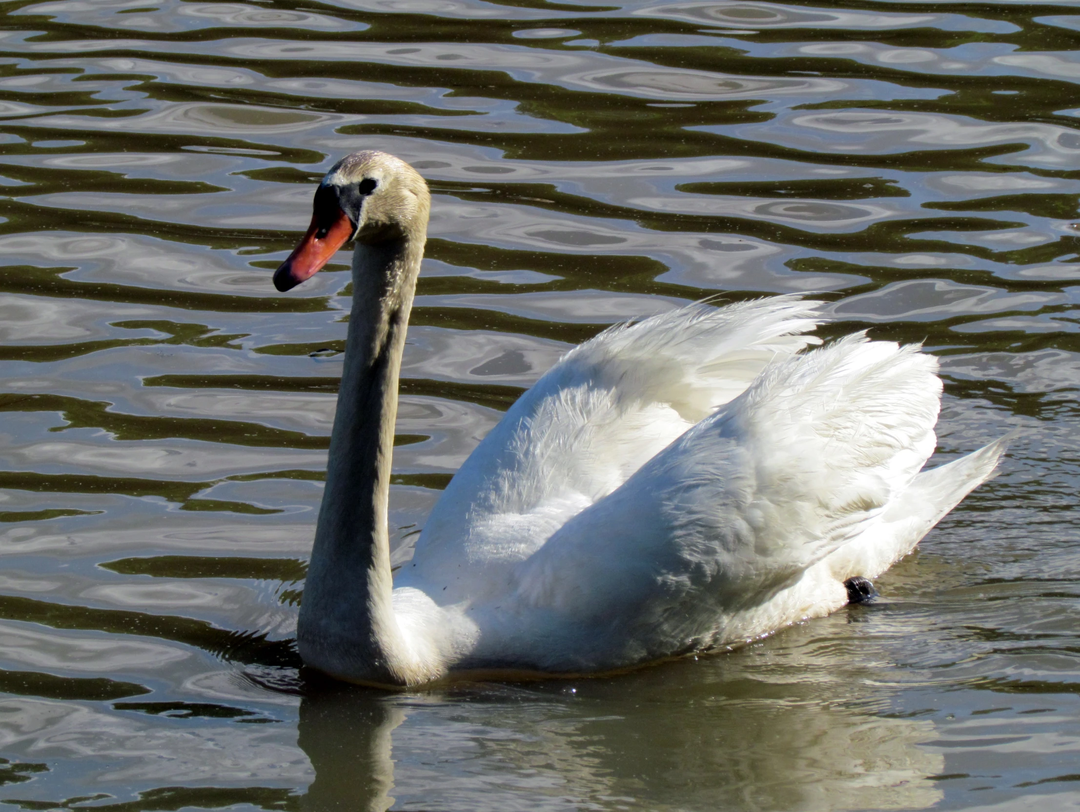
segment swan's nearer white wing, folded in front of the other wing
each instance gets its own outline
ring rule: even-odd
[[[730,642],[747,622],[771,631],[754,610],[873,527],[933,451],[935,370],[918,348],[861,335],[771,365],[515,568],[513,611],[536,618],[534,642],[562,640],[537,646],[538,665],[603,668]]]

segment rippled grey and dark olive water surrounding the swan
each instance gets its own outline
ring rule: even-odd
[[[0,800],[1080,809],[1080,6],[2,8]],[[940,460],[1020,438],[876,605],[617,678],[315,684],[349,257],[270,270],[360,148],[434,192],[399,561],[561,353],[705,296],[924,341]]]

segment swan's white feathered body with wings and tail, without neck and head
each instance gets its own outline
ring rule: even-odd
[[[862,336],[795,354],[813,304],[692,306],[569,352],[461,466],[399,572],[418,653],[615,669],[826,614],[847,579],[909,553],[1000,449],[920,474],[935,360]]]

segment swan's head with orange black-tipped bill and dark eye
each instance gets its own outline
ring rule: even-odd
[[[350,240],[422,243],[430,206],[428,185],[400,158],[374,150],[346,155],[319,185],[308,233],[274,271],[274,286],[296,287]]]

